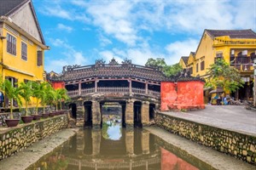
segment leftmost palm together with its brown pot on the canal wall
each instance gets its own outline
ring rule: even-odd
[[[13,104],[15,99],[18,105],[21,105],[20,88],[14,87],[12,82],[10,82],[8,79],[0,83],[0,88],[3,90],[5,96],[8,97],[10,101],[10,115],[9,119],[5,119],[5,122],[8,127],[16,127],[19,124],[20,119],[14,119]]]

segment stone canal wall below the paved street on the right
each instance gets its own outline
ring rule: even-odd
[[[199,144],[256,165],[256,136],[157,113],[156,125]]]

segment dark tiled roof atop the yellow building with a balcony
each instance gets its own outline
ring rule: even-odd
[[[211,37],[230,36],[230,38],[256,38],[256,33],[248,30],[206,30]]]

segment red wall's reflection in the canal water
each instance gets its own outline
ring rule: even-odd
[[[199,170],[197,167],[189,164],[187,161],[175,156],[170,151],[163,148],[161,150],[161,170]]]

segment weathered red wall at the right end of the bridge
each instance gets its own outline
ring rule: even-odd
[[[161,111],[204,109],[204,82],[161,82]]]

